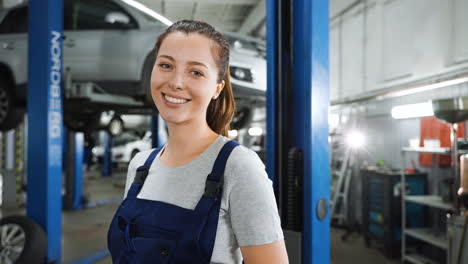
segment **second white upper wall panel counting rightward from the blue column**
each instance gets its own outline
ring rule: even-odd
[[[363,14],[351,12],[343,18],[341,33],[341,76],[343,97],[363,90]]]

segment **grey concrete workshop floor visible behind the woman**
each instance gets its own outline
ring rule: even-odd
[[[85,175],[84,193],[89,195],[91,202],[111,199],[113,202],[98,205],[78,211],[65,211],[63,213],[63,239],[62,239],[62,263],[84,264],[98,263],[111,264],[110,257],[100,258],[98,261],[84,261],[90,256],[99,256],[106,252],[107,228],[118,207],[118,200],[122,197],[126,168],[114,169],[111,178],[103,178],[100,171],[87,172]],[[5,210],[3,215],[22,213]],[[341,241],[343,230],[332,229],[331,239],[331,263],[332,264],[397,264],[397,260],[385,258],[377,249],[366,248],[359,234],[353,234],[346,242]],[[293,264],[293,263],[292,263]]]

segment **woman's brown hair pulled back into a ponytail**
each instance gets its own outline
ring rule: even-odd
[[[232,92],[229,73],[229,43],[224,36],[216,31],[208,23],[193,20],[181,20],[172,24],[163,32],[156,42],[155,56],[157,57],[159,48],[164,39],[173,32],[183,32],[185,34],[196,33],[207,37],[216,43],[214,59],[218,67],[217,82],[224,80],[224,89],[216,100],[212,99],[206,111],[206,121],[210,128],[217,134],[228,136],[229,125],[235,112],[234,94]]]

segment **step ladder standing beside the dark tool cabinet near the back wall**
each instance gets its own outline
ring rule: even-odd
[[[348,218],[348,194],[352,176],[351,155],[350,150],[344,150],[343,157],[335,160],[338,166],[332,166],[330,170],[331,221],[337,225],[344,225]]]

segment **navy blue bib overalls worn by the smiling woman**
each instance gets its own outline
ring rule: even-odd
[[[136,171],[127,197],[112,219],[107,243],[114,264],[209,263],[223,193],[226,161],[238,146],[228,141],[219,152],[194,210],[137,198],[160,149]],[[183,195],[183,194],[181,194]]]

